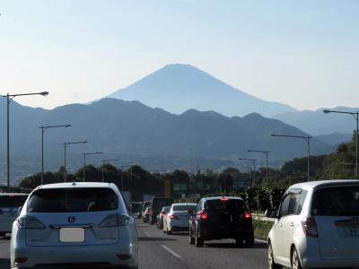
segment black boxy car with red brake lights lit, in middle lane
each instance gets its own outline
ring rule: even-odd
[[[206,197],[189,219],[189,243],[202,247],[205,240],[235,239],[254,245],[252,216],[240,197]]]

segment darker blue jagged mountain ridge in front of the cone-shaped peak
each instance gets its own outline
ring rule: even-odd
[[[2,105],[1,107],[4,108]],[[305,156],[302,141],[275,139],[272,133],[305,134],[296,127],[276,119],[252,113],[246,117],[225,117],[214,111],[196,109],[175,115],[161,108],[149,108],[138,101],[103,99],[91,105],[72,104],[52,110],[27,108],[15,104],[12,108],[11,159],[13,178],[39,171],[40,125],[71,124],[70,128],[48,130],[44,136],[45,169],[56,170],[63,164],[65,141],[87,140],[85,145],[68,149],[68,168],[83,164],[82,152],[105,152],[89,162],[102,158],[118,159],[121,163],[142,164],[145,168],[193,169],[197,160],[203,168],[219,169],[236,165],[239,157],[250,155],[247,150],[267,150],[270,165]],[[5,126],[4,114],[0,126]],[[5,128],[0,130],[5,137]],[[329,151],[327,143],[313,139],[312,153]],[[330,148],[331,149],[331,148]],[[0,181],[5,175],[5,139],[0,140]],[[161,161],[160,161],[161,160]],[[145,162],[142,162],[145,161]]]

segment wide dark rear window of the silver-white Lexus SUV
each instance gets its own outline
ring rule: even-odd
[[[39,189],[31,195],[28,212],[67,213],[116,210],[118,196],[108,187]]]

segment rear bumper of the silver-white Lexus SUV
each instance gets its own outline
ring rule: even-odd
[[[118,254],[128,255],[119,259]],[[28,257],[22,264],[14,263],[16,257]],[[130,268],[138,265],[137,242],[122,237],[118,243],[110,245],[29,247],[23,241],[12,242],[12,268]],[[128,267],[129,266],[129,267]]]

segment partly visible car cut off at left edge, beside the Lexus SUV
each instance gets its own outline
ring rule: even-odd
[[[19,207],[25,203],[26,194],[0,194],[0,237],[11,233],[13,221],[19,215]]]

